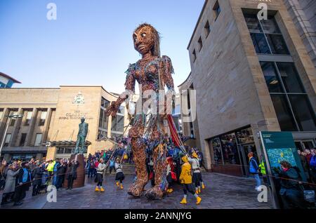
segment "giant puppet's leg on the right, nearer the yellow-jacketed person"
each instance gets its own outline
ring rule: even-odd
[[[151,140],[159,136],[157,128],[152,132]],[[157,140],[157,138],[155,139]],[[168,182],[166,181],[166,147],[164,142],[161,142],[153,151],[154,158],[154,187],[148,190],[145,196],[148,199],[161,199],[166,193]]]

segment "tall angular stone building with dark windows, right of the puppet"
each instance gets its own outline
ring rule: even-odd
[[[268,20],[257,17],[263,2]],[[248,152],[261,160],[261,130],[315,146],[316,70],[287,9],[283,0],[205,1],[187,49],[209,170],[248,175]]]

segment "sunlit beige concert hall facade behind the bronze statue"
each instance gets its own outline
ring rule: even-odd
[[[129,124],[124,104],[116,118],[105,116],[114,100],[117,95],[101,86],[0,89],[1,156],[6,160],[68,158],[82,116],[89,125],[87,154],[110,149],[113,144],[105,137],[121,137]],[[9,119],[12,114],[22,118]]]

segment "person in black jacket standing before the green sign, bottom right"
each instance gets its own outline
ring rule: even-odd
[[[301,176],[298,170],[287,161],[281,161],[280,165],[282,170],[278,168],[273,168],[273,170],[281,177],[279,195],[281,196],[284,209],[294,208],[294,206],[304,209],[303,192],[299,184]]]

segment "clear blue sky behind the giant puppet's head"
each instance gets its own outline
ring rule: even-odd
[[[47,4],[57,20],[47,20]],[[102,85],[121,93],[129,63],[139,60],[133,29],[142,22],[162,34],[175,85],[190,73],[187,44],[204,0],[0,0],[0,72],[15,87]]]

